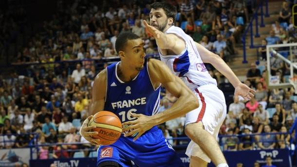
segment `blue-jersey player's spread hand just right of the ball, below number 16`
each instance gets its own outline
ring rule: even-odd
[[[151,122],[151,118],[147,115],[132,113],[133,117],[136,117],[136,120],[124,122],[122,131],[130,131],[125,134],[125,136],[132,136],[135,133],[138,133],[137,136],[133,138],[133,141],[137,140],[144,132],[150,130],[154,124]],[[129,125],[129,126],[125,126]]]

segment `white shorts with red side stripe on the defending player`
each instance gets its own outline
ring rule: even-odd
[[[186,114],[185,125],[202,121],[204,129],[217,139],[227,111],[224,94],[212,84],[195,89],[195,94],[199,99],[199,108]],[[193,141],[186,148],[186,155],[196,156],[210,163],[210,158]]]

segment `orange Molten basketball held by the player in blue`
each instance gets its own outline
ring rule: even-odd
[[[101,145],[111,145],[120,138],[122,123],[120,119],[110,111],[97,112],[89,122],[89,126],[96,126],[93,131],[98,134],[93,138],[100,139]]]

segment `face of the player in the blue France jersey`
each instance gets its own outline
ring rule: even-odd
[[[140,71],[143,69],[145,56],[144,42],[141,38],[128,40],[125,57],[128,58],[126,62],[130,64],[133,70]]]

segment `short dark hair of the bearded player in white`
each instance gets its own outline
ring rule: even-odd
[[[161,8],[165,11],[167,18],[172,18],[173,22],[175,22],[175,17],[177,14],[176,7],[167,2],[154,2],[149,5],[150,9],[158,9]]]

